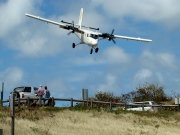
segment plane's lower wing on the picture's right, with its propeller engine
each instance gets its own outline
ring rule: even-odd
[[[135,38],[135,37],[128,37],[128,36],[121,36],[121,35],[113,35],[114,29],[112,30],[111,34],[109,33],[98,33],[99,37],[102,37],[103,39],[108,39],[109,41],[115,42],[115,38],[121,38],[121,39],[127,39],[127,40],[136,40],[136,41],[143,41],[143,42],[152,42],[151,39],[143,39],[143,38]]]

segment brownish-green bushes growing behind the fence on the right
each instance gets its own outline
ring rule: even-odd
[[[173,95],[174,97],[177,97],[177,94],[173,93]],[[157,83],[146,83],[144,85],[139,84],[136,87],[136,90],[133,90],[127,94],[122,94],[120,96],[114,96],[111,92],[99,91],[95,93],[91,99],[116,103],[155,101],[156,103],[160,104],[164,102],[170,102],[173,98],[171,96],[167,96],[167,94],[164,92],[163,86],[159,86]],[[101,107],[105,106],[106,105],[101,105]]]

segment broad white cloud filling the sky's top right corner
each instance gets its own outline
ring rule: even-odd
[[[178,27],[180,24],[179,0],[92,0],[92,4],[103,7],[109,17],[124,19],[134,18],[136,21],[152,21]]]

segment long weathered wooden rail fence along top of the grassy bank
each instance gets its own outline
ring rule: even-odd
[[[20,100],[26,100],[27,106],[30,107],[30,103],[33,100],[38,100],[39,98],[27,98],[27,99],[16,99],[16,104],[18,105],[18,108],[20,108]],[[54,107],[54,101],[69,101],[70,102],[70,107],[74,106],[75,103],[82,103],[83,105],[93,108],[94,106],[106,106],[106,109],[113,109],[114,107],[123,107],[125,110],[128,108],[128,106],[137,106],[137,104],[126,104],[126,103],[116,103],[116,102],[104,102],[104,101],[95,101],[95,100],[79,100],[79,99],[73,99],[73,98],[42,98],[42,100],[51,100],[51,105]],[[41,101],[41,100],[40,100]],[[3,100],[3,103],[9,102],[9,100]],[[41,105],[41,102],[40,102]],[[138,104],[138,106],[142,107],[142,110],[144,111],[145,106],[152,106],[152,107],[158,107],[160,111],[165,110],[164,108],[170,108],[171,110],[178,110],[180,111],[180,105],[149,105],[149,104]]]

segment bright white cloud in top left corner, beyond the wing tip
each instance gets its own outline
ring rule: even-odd
[[[38,0],[39,1],[39,0]],[[34,0],[8,0],[0,3],[0,37],[3,37],[12,31],[18,25],[25,21],[25,13],[33,8]],[[19,26],[20,27],[20,26]]]

